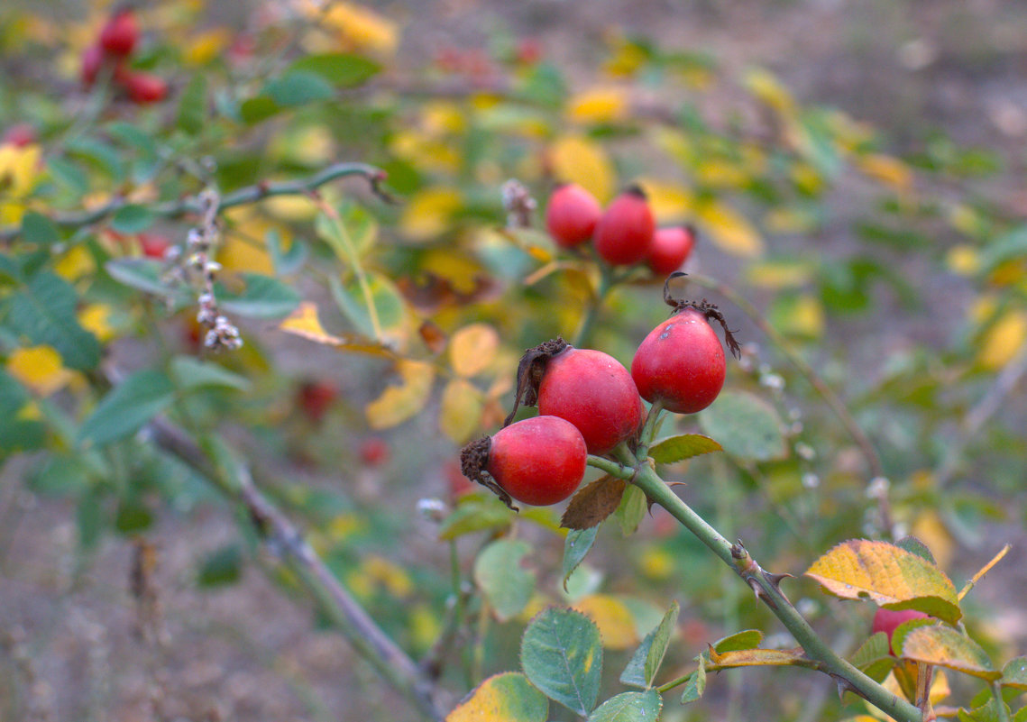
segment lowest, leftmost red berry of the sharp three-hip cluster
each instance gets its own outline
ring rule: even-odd
[[[518,501],[547,506],[574,493],[584,478],[581,432],[556,416],[535,416],[496,431],[486,470]]]

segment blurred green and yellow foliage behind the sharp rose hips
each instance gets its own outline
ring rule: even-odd
[[[624,14],[608,4],[613,21]],[[911,109],[909,99],[890,116],[899,122],[880,130],[860,112],[867,101],[868,115],[881,114],[859,77],[846,81],[858,101],[849,110],[807,102],[769,67],[738,62],[736,45],[722,43],[722,59],[716,42],[661,41],[652,30],[661,3],[639,10],[638,32],[631,18],[601,28],[582,20],[576,47],[577,18],[564,4],[528,3],[539,16],[525,9],[512,18],[473,2],[464,16],[457,5],[296,0],[246,3],[243,12],[191,0],[143,4],[130,63],[170,88],[145,106],[110,77],[91,87],[80,80],[82,53],[110,6],[0,8],[0,129],[27,124],[32,134],[0,145],[5,719],[35,719],[40,709],[121,719],[134,694],[146,696],[132,684],[166,689],[153,709],[168,718],[204,706],[249,710],[252,719],[282,710],[304,719],[410,714],[386,692],[364,689],[370,673],[342,661],[345,647],[333,648],[331,661],[311,651],[314,642],[289,656],[268,631],[276,618],[259,605],[218,622],[226,649],[213,654],[211,681],[190,686],[203,672],[186,661],[184,640],[203,633],[194,616],[219,598],[268,596],[253,566],[287,592],[297,582],[258,552],[244,519],[230,524],[231,506],[210,480],[136,433],[156,414],[216,459],[248,459],[260,486],[302,520],[314,548],[412,654],[432,645],[459,598],[478,641],[448,660],[443,681],[457,695],[483,674],[516,667],[520,631],[548,602],[589,613],[624,663],[675,599],[682,616],[669,668],[737,630],[779,631],[659,509],[633,535],[605,525],[565,592],[559,510],[514,517],[466,489],[456,451],[501,423],[524,348],[575,338],[593,312],[582,345],[626,365],[667,313],[662,278],[636,269],[607,289],[591,252],[558,251],[538,222],[508,227],[501,188],[509,179],[539,212],[557,181],[577,182],[604,203],[638,183],[661,225],[697,227],[687,290],[719,303],[739,329],[743,362],[729,365],[731,395],[718,402],[738,412],[715,405],[680,418],[679,430],[708,432],[727,453],[663,470],[764,565],[798,573],[843,539],[884,535],[882,504],[868,489],[883,489],[895,525],[923,539],[957,586],[1011,535],[1022,538],[1022,93],[982,109],[981,125],[1002,139],[994,143],[980,127],[933,122],[931,109]],[[752,16],[688,5],[679,11],[718,37],[735,21],[739,37],[754,32]],[[775,5],[800,30],[802,6],[831,12],[825,3]],[[907,32],[903,8],[930,15],[916,5],[875,6],[879,15],[851,21],[852,45],[867,54],[884,42],[867,26],[895,21],[898,61],[888,55],[877,72],[946,63],[971,76],[996,64],[1022,69],[1022,38],[1007,49],[997,21],[989,27],[998,35],[972,43],[974,33],[951,34],[946,23],[959,27],[960,10],[949,8],[944,22],[931,15],[930,39]],[[465,33],[476,17],[480,38]],[[830,84],[845,70],[804,66],[795,84],[808,87],[822,72]],[[204,188],[224,198],[347,161],[383,169],[396,202],[352,178],[317,197],[225,211],[219,298],[244,345],[205,352],[195,295],[161,275],[163,248],[182,246],[196,219],[164,211]],[[75,222],[112,201],[116,212]],[[160,251],[147,253],[148,243]],[[878,462],[805,365],[844,402]],[[744,421],[753,413],[756,430]],[[762,445],[749,443],[757,430]],[[876,473],[885,485],[871,486]],[[440,500],[427,515],[418,507],[425,498]],[[496,537],[524,544],[491,553],[510,569],[498,587],[476,567]],[[118,630],[132,609],[141,614],[124,581],[126,549],[148,545],[165,601],[146,623],[167,638],[140,651]],[[1006,564],[1006,572],[1018,566]],[[996,572],[989,595],[971,597],[967,624],[996,659],[1024,653],[1027,619],[1016,600],[1025,581],[1022,572]],[[469,596],[459,592],[464,582]],[[839,649],[866,637],[870,605],[795,583],[793,599]],[[30,613],[35,596],[47,601]],[[289,613],[291,629],[306,634],[296,621],[303,615]],[[220,618],[216,609],[211,618]],[[44,619],[59,622],[49,637]],[[60,645],[85,654],[78,645],[89,634],[108,639],[90,642],[106,650],[107,668],[93,660],[61,688],[55,680],[71,673],[54,672]],[[258,661],[238,658],[248,648]],[[101,683],[98,669],[123,672],[140,655],[149,660],[140,679]],[[262,676],[284,701],[253,701],[261,685],[244,682]],[[216,701],[232,680],[249,692]],[[341,711],[327,680],[364,694]],[[825,690],[796,671],[735,672],[713,682],[699,706],[669,700],[663,719],[865,712],[850,700],[840,711]]]

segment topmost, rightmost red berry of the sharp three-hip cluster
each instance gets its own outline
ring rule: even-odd
[[[686,307],[653,329],[632,360],[632,378],[647,402],[677,414],[713,404],[724,385],[724,349],[701,311]]]

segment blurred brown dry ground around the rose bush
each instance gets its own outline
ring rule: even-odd
[[[899,150],[934,125],[959,142],[1001,150],[1011,172],[993,184],[994,193],[1027,208],[1020,175],[1027,3],[408,0],[381,7],[407,24],[403,51],[413,63],[442,45],[484,43],[505,29],[538,37],[547,55],[583,78],[604,33],[621,25],[664,45],[709,51],[731,68],[766,65],[801,99],[838,105],[884,128]],[[159,559],[159,639],[140,640],[128,592],[130,542],[107,539],[76,573],[73,509],[21,491],[22,470],[8,464],[0,485],[0,719],[411,718],[385,698],[343,641],[312,631],[308,604],[286,598],[255,565],[236,585],[195,588],[196,561],[235,534],[225,507],[158,521],[151,538]],[[424,492],[443,493],[438,474]],[[1023,541],[1014,528],[996,530],[992,541],[1015,535]],[[996,605],[996,624],[1020,654],[1027,653],[1024,547],[975,593]],[[973,569],[993,548],[959,549],[960,568]]]

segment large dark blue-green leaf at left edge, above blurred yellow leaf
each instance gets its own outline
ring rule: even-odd
[[[53,346],[69,369],[88,371],[100,363],[100,342],[79,326],[78,295],[60,276],[42,271],[10,300],[7,325],[35,344]]]

